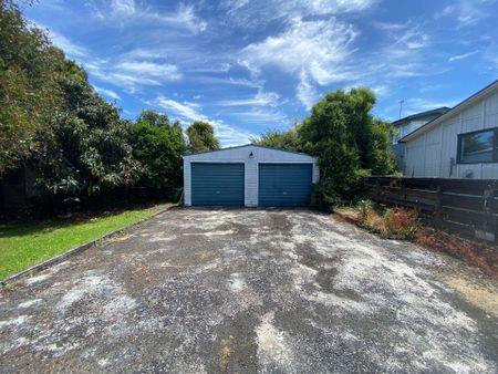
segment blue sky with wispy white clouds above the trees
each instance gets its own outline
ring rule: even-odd
[[[498,0],[40,0],[24,14],[135,120],[212,123],[224,146],[354,86],[396,120],[498,77]]]

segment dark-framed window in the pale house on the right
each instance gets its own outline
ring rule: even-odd
[[[497,163],[498,128],[458,135],[458,162]]]

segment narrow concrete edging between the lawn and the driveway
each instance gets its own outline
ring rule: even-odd
[[[85,251],[86,249],[89,249],[89,248],[91,248],[93,246],[96,246],[102,240],[107,240],[107,239],[110,239],[110,238],[112,238],[112,237],[114,237],[116,235],[120,235],[120,233],[122,233],[122,232],[124,232],[126,230],[129,230],[131,228],[133,228],[135,226],[138,226],[138,225],[141,225],[141,224],[143,224],[143,222],[145,222],[145,221],[147,221],[147,220],[149,220],[149,219],[152,219],[152,218],[154,218],[154,217],[165,212],[165,211],[168,211],[168,210],[170,210],[173,208],[176,208],[176,207],[178,207],[177,204],[168,205],[167,207],[165,207],[163,209],[159,209],[158,211],[154,212],[152,216],[149,216],[147,218],[141,219],[141,220],[138,220],[138,221],[136,221],[134,224],[131,224],[128,226],[124,226],[124,227],[117,228],[117,229],[115,229],[115,230],[113,230],[111,232],[104,233],[103,236],[100,236],[100,237],[97,237],[95,239],[92,239],[92,240],[90,240],[90,241],[87,241],[87,242],[85,242],[85,243],[83,243],[81,246],[73,247],[73,248],[66,250],[65,252],[62,252],[62,253],[56,254],[54,257],[51,257],[51,258],[49,258],[49,259],[46,259],[46,260],[44,260],[44,261],[42,261],[40,263],[33,264],[32,267],[29,267],[28,269],[24,269],[24,270],[21,270],[21,271],[17,272],[17,273],[13,273],[12,276],[9,276],[9,277],[0,280],[0,287],[6,287],[6,285],[8,285],[10,283],[13,283],[13,282],[24,278],[24,277],[31,276],[31,274],[33,274],[35,272],[41,271],[41,270],[45,270],[45,269],[48,269],[48,268],[50,268],[50,267],[52,267],[52,266],[54,266],[56,263],[61,263],[62,261],[66,260],[68,258],[72,257],[72,256],[75,256],[75,254],[79,254],[79,253]]]

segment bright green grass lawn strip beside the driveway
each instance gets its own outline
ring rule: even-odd
[[[156,206],[86,219],[0,224],[0,280],[107,232],[151,217],[159,209],[160,207]]]

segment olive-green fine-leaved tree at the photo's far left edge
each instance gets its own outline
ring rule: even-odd
[[[37,149],[34,134],[60,104],[56,60],[45,33],[0,0],[0,176]]]

